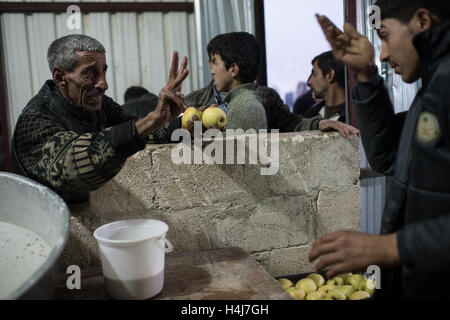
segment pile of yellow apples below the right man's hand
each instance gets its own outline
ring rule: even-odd
[[[295,300],[362,300],[375,291],[375,280],[362,274],[342,273],[325,282],[318,273],[311,273],[294,284],[286,278],[278,279],[280,285]]]

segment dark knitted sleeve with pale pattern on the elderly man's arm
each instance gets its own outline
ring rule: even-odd
[[[19,119],[14,141],[30,177],[60,194],[99,188],[121,170],[127,157],[145,147],[134,120],[78,135],[40,113]]]

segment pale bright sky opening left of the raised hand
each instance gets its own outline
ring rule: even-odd
[[[343,1],[265,0],[268,85],[291,107],[308,90],[311,61],[330,50],[315,13],[344,24]],[[299,83],[303,82],[303,85]]]

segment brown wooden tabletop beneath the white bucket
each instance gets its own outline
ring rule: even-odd
[[[82,272],[81,289],[60,277],[55,299],[109,299],[101,268]],[[240,248],[166,256],[164,288],[154,300],[292,300],[257,262]]]

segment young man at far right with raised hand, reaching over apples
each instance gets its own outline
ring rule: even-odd
[[[310,260],[328,275],[382,268],[379,297],[449,298],[450,280],[450,8],[447,0],[379,0],[380,60],[403,81],[422,79],[409,111],[394,114],[374,48],[350,24],[342,33],[319,23],[336,59],[356,73],[353,91],[361,137],[372,168],[392,176],[381,235],[322,236]],[[376,295],[376,296],[377,296]]]

